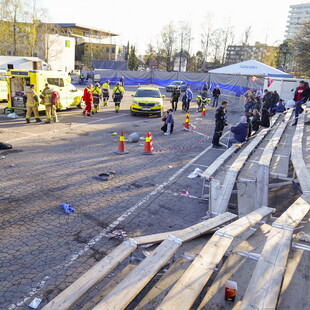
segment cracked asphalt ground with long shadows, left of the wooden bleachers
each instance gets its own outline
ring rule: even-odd
[[[46,304],[122,241],[109,236],[115,229],[132,237],[181,229],[205,215],[207,204],[196,198],[202,181],[187,175],[222,153],[210,149],[214,109],[202,119],[193,104],[195,133],[182,131],[185,115],[176,112],[175,132],[163,136],[161,119],[130,116],[133,90],[119,114],[109,103],[91,118],[62,111],[59,124],[0,116],[0,141],[13,145],[0,152],[0,309],[28,309],[34,297]],[[229,122],[238,117],[230,114]],[[112,133],[120,130],[143,137],[151,131],[155,150],[175,150],[145,156],[141,141],[116,155]],[[96,179],[111,170],[113,179]],[[184,189],[191,197],[179,195]],[[65,215],[63,202],[76,212]]]

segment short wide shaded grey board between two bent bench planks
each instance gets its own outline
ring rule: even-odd
[[[256,182],[237,182],[239,217],[245,216],[256,209],[253,193],[256,193]]]

